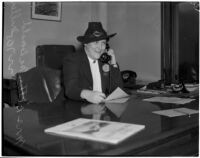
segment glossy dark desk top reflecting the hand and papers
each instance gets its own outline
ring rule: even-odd
[[[106,115],[111,121],[145,125],[145,130],[118,145],[45,133],[46,128],[76,118],[92,118],[91,110],[88,110],[87,114],[81,111],[81,107],[89,107],[89,104],[72,100],[67,100],[63,105],[29,104],[18,108],[4,108],[3,136],[5,140],[14,145],[39,155],[98,155],[104,153],[119,155],[125,150],[140,148],[142,150],[145,144],[151,144],[159,139],[164,140],[168,136],[198,126],[198,114],[191,115],[191,117],[186,115],[169,118],[152,113],[152,111],[177,107],[198,109],[198,98],[191,103],[177,105],[142,101],[147,97],[149,96],[132,95],[126,103],[122,104],[123,108],[118,116],[109,109],[106,110]]]

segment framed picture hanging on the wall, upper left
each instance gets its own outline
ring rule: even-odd
[[[32,2],[31,18],[61,21],[61,2]]]

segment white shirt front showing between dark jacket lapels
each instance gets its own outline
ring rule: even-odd
[[[90,63],[90,69],[92,72],[92,79],[93,79],[93,91],[102,92],[101,86],[101,74],[99,71],[99,64],[98,61],[94,61],[90,57],[88,57]]]

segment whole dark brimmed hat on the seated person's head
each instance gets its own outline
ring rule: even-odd
[[[109,40],[111,37],[115,36],[117,33],[107,35],[106,31],[103,29],[101,22],[89,22],[88,28],[85,31],[84,36],[78,36],[77,40],[81,43],[90,43],[99,40]]]

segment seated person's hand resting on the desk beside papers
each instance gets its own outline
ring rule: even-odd
[[[82,90],[81,98],[86,99],[90,103],[99,104],[105,102],[106,95],[102,92]]]

